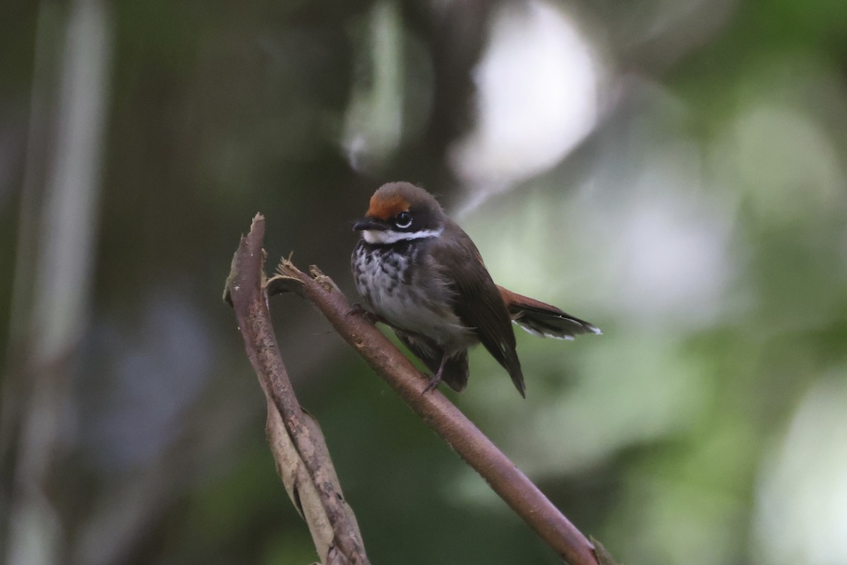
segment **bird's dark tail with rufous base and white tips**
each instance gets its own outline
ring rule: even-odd
[[[512,322],[530,334],[573,340],[575,335],[602,333],[594,324],[564,313],[555,306],[509,291],[501,285],[497,285],[497,290],[506,302]]]

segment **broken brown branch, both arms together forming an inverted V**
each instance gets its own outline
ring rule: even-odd
[[[355,518],[340,497],[335,472],[325,451],[323,436],[317,424],[309,424],[291,391],[280,353],[270,324],[267,296],[294,292],[324,314],[335,331],[401,396],[430,428],[457,451],[501,496],[503,501],[532,527],[542,540],[571,565],[614,565],[600,544],[585,538],[579,529],[553,506],[551,501],[500,451],[473,423],[440,391],[424,388],[429,379],[422,376],[405,357],[362,313],[347,302],[328,276],[317,267],[309,274],[297,269],[290,260],[283,260],[279,274],[265,281],[262,272],[264,219],[253,219],[250,234],[242,238],[233,259],[230,279],[224,296],[231,299],[244,334],[247,355],[268,396],[268,436],[272,448],[277,440],[290,438],[293,449],[280,448],[284,454],[302,461],[307,471],[307,486],[314,491],[313,504],[320,507],[326,523],[309,522],[318,553],[324,552],[318,539],[329,535],[335,557],[351,563],[367,563]],[[273,413],[281,415],[281,426],[272,425]],[[282,430],[280,432],[280,429]],[[275,457],[276,454],[274,454]],[[277,457],[277,467],[285,467]],[[280,470],[280,475],[285,474]],[[331,480],[324,481],[326,477]],[[291,482],[291,479],[288,479]],[[288,488],[286,482],[286,488]],[[292,500],[301,506],[302,491],[292,492]],[[303,504],[303,507],[306,505]],[[301,512],[304,512],[305,508]],[[318,512],[319,513],[319,512]],[[308,521],[308,517],[307,517]],[[325,543],[325,542],[320,542]],[[329,563],[325,559],[324,563]]]

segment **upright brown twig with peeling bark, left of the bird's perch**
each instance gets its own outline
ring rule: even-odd
[[[268,397],[268,443],[324,565],[368,565],[362,536],[341,495],[324,437],[297,402],[280,357],[263,285],[263,237],[264,219],[257,214],[232,259],[224,299],[235,308],[247,357]]]

